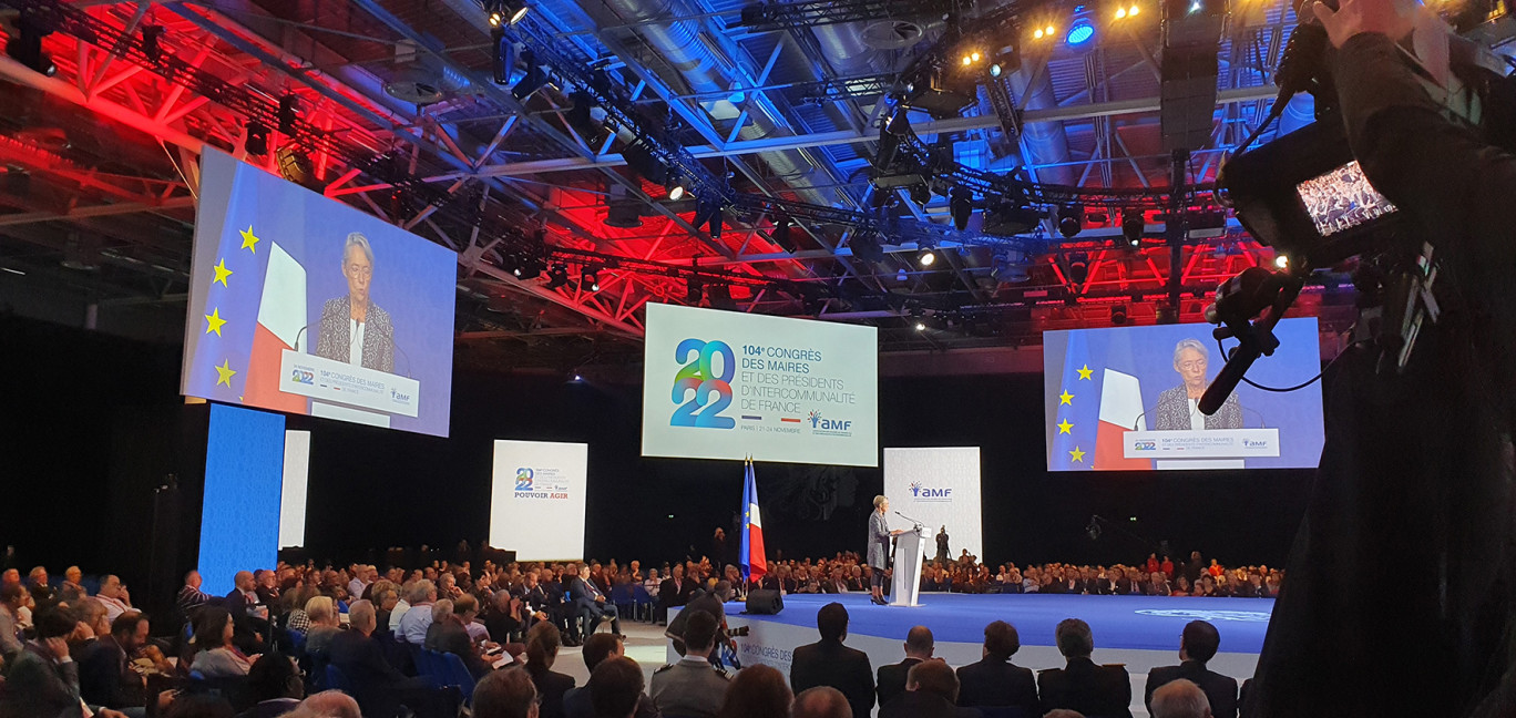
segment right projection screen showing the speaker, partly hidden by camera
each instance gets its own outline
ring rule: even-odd
[[[1320,383],[1237,386],[1211,417],[1195,403],[1226,357],[1210,324],[1043,335],[1049,471],[1311,468],[1322,453]],[[1280,321],[1280,348],[1248,379],[1295,386],[1320,373],[1316,318]]]

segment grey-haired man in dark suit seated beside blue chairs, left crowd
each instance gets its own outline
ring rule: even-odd
[[[347,620],[350,630],[332,638],[327,656],[329,663],[343,671],[352,685],[364,715],[390,718],[400,712],[402,700],[420,710],[431,686],[426,679],[409,679],[385,660],[384,648],[373,638],[377,627],[373,603],[353,601],[347,609]]]

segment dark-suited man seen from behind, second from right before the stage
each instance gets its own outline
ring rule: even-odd
[[[1095,651],[1090,624],[1066,618],[1058,623],[1054,641],[1067,663],[1037,674],[1041,712],[1066,707],[1101,718],[1131,718],[1132,686],[1126,668],[1090,660]]]

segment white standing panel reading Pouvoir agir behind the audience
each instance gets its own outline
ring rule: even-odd
[[[584,557],[588,444],[494,442],[490,545],[517,560]]]

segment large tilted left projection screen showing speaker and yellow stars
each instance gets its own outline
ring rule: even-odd
[[[206,150],[180,391],[447,436],[458,254]]]

